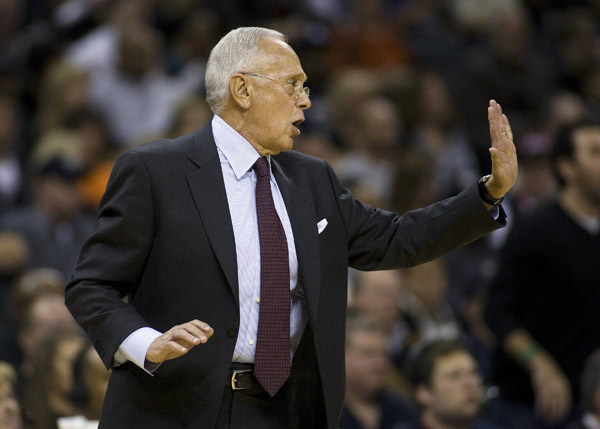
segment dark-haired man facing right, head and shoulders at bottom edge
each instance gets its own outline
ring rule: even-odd
[[[479,419],[483,381],[466,346],[447,340],[428,344],[415,357],[410,375],[421,417],[403,429],[499,429]]]

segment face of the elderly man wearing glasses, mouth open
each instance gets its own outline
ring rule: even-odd
[[[304,110],[311,105],[304,91],[294,92],[306,74],[293,49],[273,38],[260,42],[260,59],[254,70],[241,70],[259,76],[244,75],[251,96],[243,135],[265,155],[276,155],[292,148],[293,137],[300,134]],[[298,84],[299,82],[299,84]]]

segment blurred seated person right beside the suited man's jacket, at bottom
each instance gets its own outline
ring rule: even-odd
[[[385,330],[361,313],[346,323],[346,399],[342,429],[392,429],[414,421],[417,409],[386,388],[390,361]]]

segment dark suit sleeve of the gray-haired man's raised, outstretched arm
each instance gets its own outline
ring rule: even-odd
[[[403,215],[372,208],[352,198],[329,168],[346,222],[348,262],[360,270],[410,267],[438,258],[506,225],[486,210],[477,184],[455,197]]]

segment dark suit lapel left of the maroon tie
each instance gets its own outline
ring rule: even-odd
[[[189,158],[199,168],[187,176],[206,235],[239,305],[235,238],[219,154],[210,123],[196,133]]]

